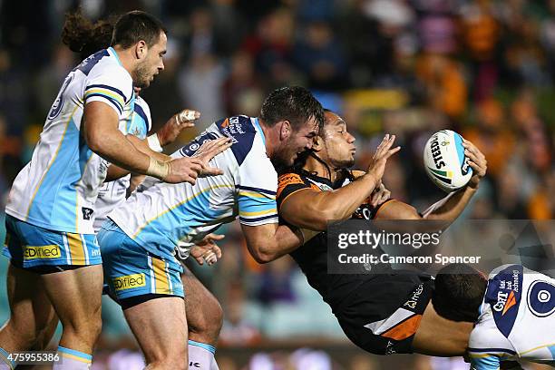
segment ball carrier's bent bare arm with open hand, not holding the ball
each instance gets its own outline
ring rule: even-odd
[[[299,228],[323,231],[329,220],[348,219],[380,186],[387,159],[399,151],[391,149],[395,136],[385,135],[368,171],[356,181],[337,190],[318,191],[307,188],[292,193],[281,203],[279,215]]]

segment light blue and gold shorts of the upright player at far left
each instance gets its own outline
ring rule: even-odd
[[[94,234],[74,234],[32,225],[5,216],[3,254],[18,268],[91,266],[102,264]]]

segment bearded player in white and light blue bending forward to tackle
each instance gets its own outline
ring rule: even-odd
[[[194,243],[239,216],[248,248],[273,253],[303,237],[277,226],[277,173],[311,147],[323,123],[319,102],[306,89],[277,89],[258,118],[229,117],[213,123],[174,154],[202,151],[204,142],[229,137],[233,145],[210,162],[223,170],[194,186],[155,183],[135,192],[109,215],[98,234],[104,274],[147,364],[186,368],[187,317],[182,268]],[[163,317],[163,319],[161,319]]]

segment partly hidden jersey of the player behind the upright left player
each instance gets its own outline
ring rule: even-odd
[[[120,122],[120,131],[124,135],[133,135],[142,140],[151,131],[151,125],[151,109],[149,104],[141,96],[137,96],[131,117],[127,117]],[[125,201],[130,179],[131,175],[127,175],[121,179],[102,184],[96,203],[94,203],[94,231],[98,232],[102,227],[102,223],[107,219],[108,213]]]

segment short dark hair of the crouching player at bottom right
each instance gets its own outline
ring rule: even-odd
[[[433,308],[448,320],[473,323],[486,287],[487,280],[477,269],[463,263],[447,265],[435,277]]]

